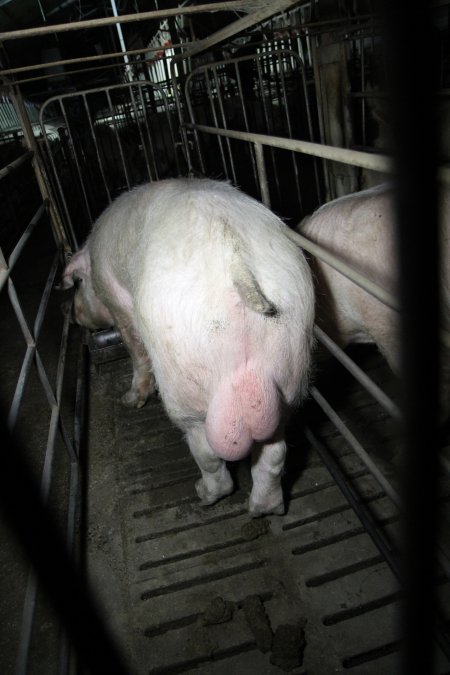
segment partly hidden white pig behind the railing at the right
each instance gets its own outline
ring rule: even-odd
[[[450,188],[440,192],[443,325],[450,327]],[[300,234],[346,262],[394,296],[393,191],[389,183],[335,199],[297,227]],[[427,236],[424,227],[423,236]],[[398,312],[318,258],[313,259],[317,323],[341,347],[375,343],[390,367],[399,370]],[[420,273],[420,271],[418,271]]]

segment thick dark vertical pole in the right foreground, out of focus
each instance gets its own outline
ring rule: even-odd
[[[434,44],[427,2],[385,3],[400,267],[405,595],[402,673],[434,673],[439,285]],[[411,54],[421,57],[411,67]],[[425,236],[424,236],[425,234]]]

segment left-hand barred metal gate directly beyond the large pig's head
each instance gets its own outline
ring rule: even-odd
[[[40,121],[55,199],[76,245],[121,192],[177,176],[184,166],[174,101],[133,82],[53,97]],[[58,139],[49,136],[49,123]]]

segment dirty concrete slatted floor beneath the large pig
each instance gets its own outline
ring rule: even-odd
[[[372,359],[384,368],[377,355]],[[139,411],[118,402],[129,377],[126,359],[92,374],[89,559],[131,672],[283,672],[289,664],[277,661],[276,643],[263,652],[257,622],[246,618],[244,600],[251,595],[260,598],[274,633],[285,624],[304,625],[302,663],[294,660],[290,672],[398,672],[398,585],[296,424],[285,516],[249,519],[246,462],[231,467],[234,494],[202,507],[194,490],[199,471],[160,402]],[[349,390],[342,405],[341,412],[364,420],[369,448],[381,442],[385,455],[395,455],[395,429],[366,395]],[[313,414],[311,424],[395,538],[398,514],[390,500],[328,422]],[[444,604],[448,592],[443,584]],[[217,598],[232,616],[208,623],[205,613]],[[286,656],[288,643],[279,644]],[[445,659],[439,663],[438,672],[448,672]]]

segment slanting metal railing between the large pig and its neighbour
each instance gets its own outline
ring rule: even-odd
[[[324,158],[325,160],[339,161],[342,163],[347,163],[353,166],[364,167],[374,171],[382,171],[383,173],[392,172],[391,161],[387,157],[380,155],[374,155],[372,153],[360,152],[355,150],[349,150],[345,148],[336,148],[333,146],[326,146],[322,144],[309,143],[306,141],[298,141],[293,139],[277,138],[277,137],[267,137],[263,134],[252,134],[248,132],[235,131],[224,128],[215,128],[212,126],[206,125],[194,125],[186,123],[185,126],[190,129],[195,129],[197,133],[203,133],[208,135],[220,135],[224,138],[233,138],[241,141],[242,143],[249,143],[253,145],[255,155],[259,158],[256,163],[256,171],[258,175],[258,184],[260,189],[260,198],[266,204],[266,206],[271,206],[270,191],[268,185],[267,171],[265,165],[265,157],[262,152],[262,148],[265,146],[268,147],[278,147],[286,148],[293,152],[307,153],[314,155],[316,157]],[[450,169],[448,167],[440,167],[438,172],[438,178],[441,182],[445,184],[450,184]],[[381,288],[377,284],[374,284],[371,280],[367,279],[363,274],[353,270],[348,264],[344,263],[337,256],[331,255],[326,249],[322,246],[319,246],[306,237],[297,234],[296,232],[291,232],[290,235],[302,248],[311,253],[314,256],[320,258],[326,264],[330,265],[336,269],[341,274],[349,278],[353,283],[356,283],[358,286],[363,288],[367,293],[377,298],[380,302],[386,306],[398,310],[399,301],[391,293],[387,292],[384,288]],[[315,327],[316,338],[320,341],[322,345],[326,347],[330,353],[335,356],[344,367],[358,380],[362,386],[367,389],[367,391],[382,405],[382,407],[388,412],[390,416],[394,419],[399,420],[401,418],[400,409],[396,403],[394,403],[386,394],[380,390],[380,388],[365,374],[361,369],[351,360],[349,357],[336,345],[328,335],[326,335],[319,327]],[[441,343],[445,348],[450,348],[450,334],[448,331],[441,329],[440,330],[440,339]],[[346,440],[352,450],[358,455],[361,461],[364,463],[366,468],[369,470],[371,475],[377,481],[377,483],[382,487],[385,494],[393,501],[393,503],[399,508],[399,517],[402,513],[402,499],[398,491],[390,484],[390,482],[383,475],[383,472],[379,469],[376,462],[371,458],[369,453],[364,449],[362,443],[358,440],[355,434],[348,428],[342,418],[337,414],[333,409],[330,403],[323,396],[321,391],[317,389],[316,386],[311,388],[311,396],[318,404],[318,406],[325,413],[327,418],[335,426],[338,432]],[[319,452],[323,461],[327,467],[332,472],[332,475],[336,477],[338,484],[343,489],[344,493],[348,492],[348,485],[345,480],[345,476],[341,476],[336,464],[336,460],[333,459],[332,453],[325,448],[325,446],[320,442],[316,437],[313,430],[307,430],[307,438],[312,443],[313,447]],[[448,462],[441,460],[441,467],[448,473]],[[365,526],[367,526],[367,531],[370,536],[373,538],[376,545],[379,547],[380,551],[385,555],[386,561],[393,569],[395,575],[402,580],[401,569],[399,567],[399,562],[397,555],[395,554],[392,543],[389,543],[382,531],[377,528],[376,524],[371,521],[370,514],[367,512],[364,505],[358,503],[359,500],[353,493],[347,494],[350,502],[352,503],[358,517]],[[439,563],[440,569],[444,572],[447,578],[450,578],[450,559],[448,552],[437,547],[437,560]],[[450,658],[450,644],[445,635],[445,632],[439,630],[437,633],[437,642],[443,652],[446,654],[447,658]]]

